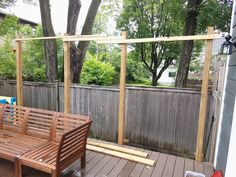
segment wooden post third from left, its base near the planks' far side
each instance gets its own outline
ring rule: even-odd
[[[128,36],[127,31],[122,32],[122,39],[127,39],[127,36]],[[120,101],[119,101],[119,123],[118,123],[118,144],[120,145],[124,143],[126,58],[127,58],[127,44],[121,44]]]

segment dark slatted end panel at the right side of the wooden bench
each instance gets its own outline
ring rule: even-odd
[[[91,123],[89,118],[86,123],[62,135],[56,161],[58,171],[62,171],[85,153]]]

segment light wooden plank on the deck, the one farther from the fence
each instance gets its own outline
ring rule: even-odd
[[[112,151],[112,150],[97,147],[97,146],[87,145],[86,148],[88,150],[101,152],[101,153],[104,153],[104,154],[120,157],[120,158],[123,158],[123,159],[126,159],[126,160],[142,163],[142,164],[149,165],[149,166],[153,166],[155,164],[155,161],[151,160],[151,159],[146,159],[146,158],[143,158],[143,157],[138,157],[138,156],[122,153],[122,152]]]

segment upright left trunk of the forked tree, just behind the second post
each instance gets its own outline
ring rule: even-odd
[[[68,16],[67,16],[67,34],[75,35],[76,27],[78,22],[78,17],[81,8],[80,0],[69,0],[68,7]],[[74,42],[71,43],[71,52],[70,52],[70,72],[71,72],[71,81],[74,82],[74,75],[76,74],[76,68],[79,67],[78,56],[80,54]],[[74,74],[75,73],[75,74]],[[63,76],[64,77],[64,76]],[[62,77],[62,78],[63,78]]]

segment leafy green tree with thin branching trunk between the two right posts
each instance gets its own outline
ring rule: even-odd
[[[124,0],[118,28],[127,30],[131,38],[180,35],[183,30],[183,1]],[[178,60],[178,42],[135,44],[137,60],[142,61],[156,86],[165,69]],[[157,73],[157,68],[162,67]]]

